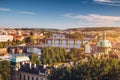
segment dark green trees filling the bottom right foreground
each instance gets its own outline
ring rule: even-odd
[[[116,59],[91,58],[75,67],[54,69],[48,80],[120,80],[120,62]]]

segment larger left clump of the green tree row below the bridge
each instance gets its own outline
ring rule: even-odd
[[[66,50],[64,48],[46,47],[42,49],[41,62],[42,64],[51,64],[65,61]]]

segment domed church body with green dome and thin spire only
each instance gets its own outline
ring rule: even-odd
[[[104,33],[102,39],[97,42],[97,53],[105,55],[108,54],[111,49],[112,44],[109,40],[106,40],[106,33]]]

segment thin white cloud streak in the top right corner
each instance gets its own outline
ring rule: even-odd
[[[110,6],[120,6],[120,0],[93,0],[98,4],[110,5]]]

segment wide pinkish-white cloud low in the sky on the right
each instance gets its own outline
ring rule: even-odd
[[[120,16],[105,16],[99,14],[74,15],[69,13],[65,14],[64,17],[77,19],[80,24],[88,26],[118,26],[120,23]]]

